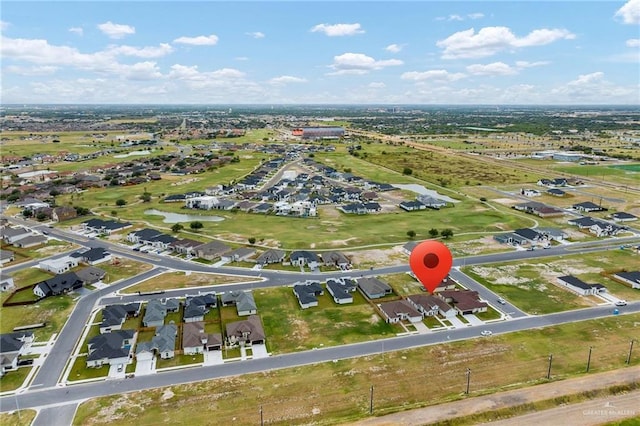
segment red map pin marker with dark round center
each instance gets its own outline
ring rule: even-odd
[[[431,294],[447,276],[452,264],[449,248],[440,241],[424,241],[409,256],[411,270]]]

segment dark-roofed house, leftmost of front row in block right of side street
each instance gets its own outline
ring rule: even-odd
[[[87,367],[129,364],[136,335],[135,330],[114,330],[91,338],[88,343]]]

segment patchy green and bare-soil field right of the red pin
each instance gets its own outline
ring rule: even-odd
[[[609,293],[622,299],[640,299],[640,291],[606,277],[625,268],[637,269],[639,262],[640,256],[629,250],[611,250],[522,263],[469,266],[463,270],[525,312],[544,314],[593,306],[599,301],[557,286],[556,278],[562,275],[603,284]]]

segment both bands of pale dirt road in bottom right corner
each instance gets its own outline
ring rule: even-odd
[[[462,401],[404,411],[387,416],[373,417],[352,423],[352,425],[427,425],[456,417],[516,407],[564,395],[578,394],[585,390],[605,389],[615,385],[630,383],[640,383],[640,366],[590,374],[575,379],[560,380],[492,395],[472,397]],[[513,417],[504,421],[492,422],[490,424],[596,425],[628,417],[640,417],[640,391],[619,396],[598,398],[584,403],[565,405],[550,410]]]

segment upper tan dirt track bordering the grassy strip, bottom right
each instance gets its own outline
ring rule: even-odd
[[[426,425],[451,420],[456,417],[464,417],[476,413],[515,407],[564,395],[578,394],[586,390],[605,389],[611,386],[633,382],[640,382],[640,366],[620,368],[618,370],[605,373],[589,374],[575,379],[559,380],[557,382],[500,392],[492,395],[471,397],[461,401],[434,405],[432,407],[418,408],[381,417],[372,417],[350,424],[354,426]],[[613,399],[613,396],[611,399]],[[640,404],[638,404],[638,406],[638,410],[631,416],[640,415]],[[571,405],[567,407],[571,407]],[[517,417],[511,419],[511,422],[512,424],[519,423]],[[558,424],[568,425],[574,423],[560,422]]]

